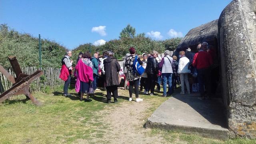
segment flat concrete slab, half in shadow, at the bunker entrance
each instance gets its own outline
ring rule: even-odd
[[[200,100],[199,94],[176,94],[148,118],[146,128],[179,130],[209,138],[228,139],[221,99]]]

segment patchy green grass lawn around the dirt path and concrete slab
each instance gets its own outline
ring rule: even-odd
[[[74,89],[70,89],[71,94],[75,94]],[[162,104],[167,98],[158,96],[141,95],[144,99],[140,104],[128,102],[128,90],[118,90],[120,98],[118,103],[106,104],[106,91],[96,92],[92,97],[92,102],[80,102],[78,98],[72,96],[66,98],[62,96],[62,88],[48,93],[34,93],[33,95],[43,103],[42,106],[34,106],[25,96],[17,96],[12,100],[6,100],[0,104],[0,144],[50,144],[50,143],[118,143],[115,138],[108,134],[118,135],[124,138],[129,135],[131,129],[124,126],[116,134],[113,128],[116,122],[124,121],[132,117],[137,123],[128,124],[133,128],[131,133],[140,133],[144,138],[144,143],[155,143],[151,138],[160,138],[160,143],[212,143],[212,144],[255,144],[256,140],[233,139],[228,141],[202,138],[192,134],[183,134],[159,129],[143,128],[147,118]],[[130,107],[129,107],[130,106]],[[140,106],[140,112],[128,114],[122,119],[122,113],[134,106]],[[119,112],[118,117],[110,122],[108,117],[113,110]],[[135,108],[135,110],[137,110]],[[111,115],[111,116],[112,116]],[[126,124],[124,122],[124,124]],[[124,125],[122,124],[122,125]],[[110,137],[110,138],[109,138]],[[136,142],[136,140],[135,140]],[[135,143],[125,140],[123,143]]]

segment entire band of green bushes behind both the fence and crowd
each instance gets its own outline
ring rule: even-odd
[[[135,30],[135,29],[134,29]],[[135,34],[135,33],[134,33]],[[92,54],[99,51],[112,51],[114,56],[122,59],[126,53],[129,53],[129,48],[136,48],[137,54],[144,52],[149,53],[156,50],[159,53],[164,50],[175,50],[182,38],[171,38],[163,41],[152,40],[145,37],[145,34],[139,34],[134,37],[122,37],[106,42],[100,46],[90,45],[88,43],[82,44],[72,50],[72,60],[76,64],[76,59],[79,52],[89,51],[91,48]],[[64,56],[67,48],[60,44],[42,39],[42,66],[60,68],[60,60]],[[10,68],[10,62],[7,56],[16,56],[21,67],[39,66],[39,48],[38,38],[27,33],[19,33],[16,30],[10,29],[7,24],[1,24],[0,27],[0,64],[4,68]]]

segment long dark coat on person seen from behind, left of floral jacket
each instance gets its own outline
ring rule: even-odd
[[[108,56],[103,63],[105,70],[105,86],[119,86],[118,72],[120,71],[120,65],[116,58]]]

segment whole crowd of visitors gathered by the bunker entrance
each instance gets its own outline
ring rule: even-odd
[[[68,94],[70,76],[72,71],[76,77],[76,92],[80,100],[92,101],[89,95],[99,90],[97,84],[102,83],[102,87],[107,92],[107,103],[114,97],[114,103],[118,102],[118,86],[122,78],[124,79],[124,89],[129,89],[129,101],[132,101],[135,92],[135,101],[142,102],[139,91],[143,94],[154,96],[156,90],[160,92],[160,85],[163,87],[163,97],[171,96],[177,84],[181,85],[180,94],[190,94],[190,92],[200,92],[202,99],[209,98],[214,94],[216,88],[216,75],[218,73],[218,61],[216,51],[207,42],[198,44],[197,53],[191,52],[188,47],[185,51],[180,51],[178,56],[172,51],[166,50],[162,57],[157,51],[151,53],[136,54],[136,49],[129,48],[128,54],[124,56],[122,67],[118,60],[114,58],[114,53],[105,51],[101,56],[96,52],[91,56],[90,52],[79,53],[77,64],[73,70],[71,60],[72,52],[66,52],[62,58],[62,69],[60,78],[65,81],[64,96]],[[140,72],[138,66],[142,66]],[[97,80],[99,82],[97,82]],[[213,77],[213,78],[212,78]],[[194,90],[196,87],[196,90]],[[168,90],[167,90],[168,88]],[[205,93],[207,92],[207,95]]]

